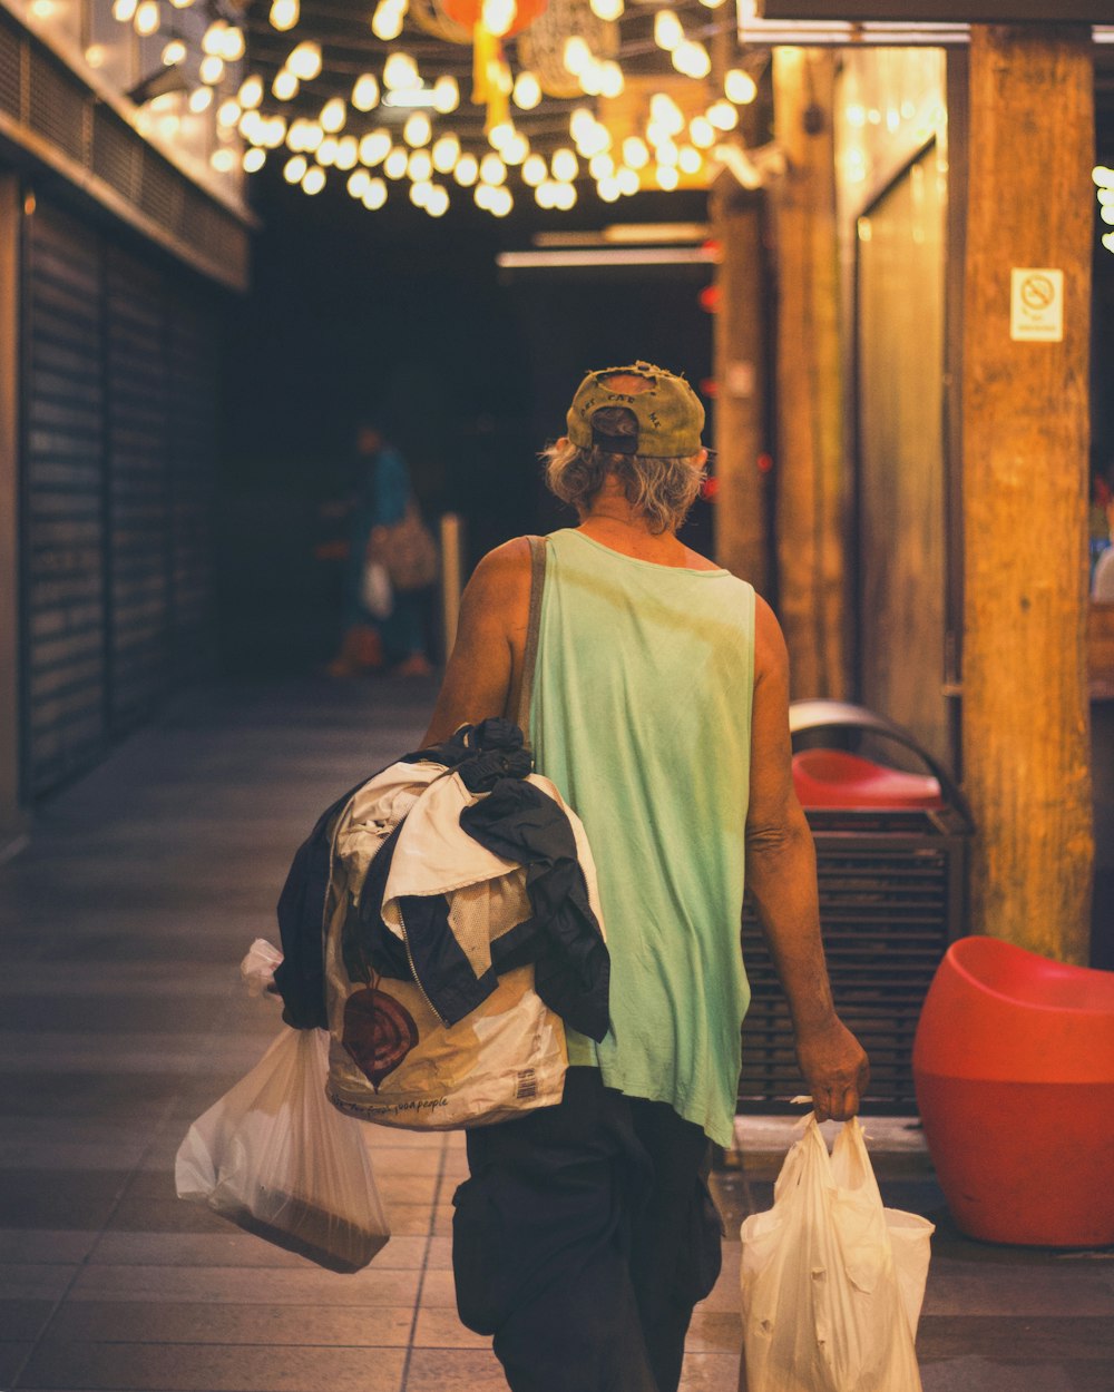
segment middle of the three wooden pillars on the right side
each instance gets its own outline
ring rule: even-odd
[[[774,49],[774,134],[788,160],[774,198],[774,516],[794,697],[847,690],[834,75],[830,52]]]

